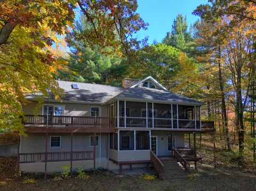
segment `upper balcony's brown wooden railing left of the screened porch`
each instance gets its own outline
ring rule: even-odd
[[[85,116],[24,115],[23,124],[41,125],[90,125],[114,127],[114,118]]]

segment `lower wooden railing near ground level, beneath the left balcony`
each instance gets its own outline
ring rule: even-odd
[[[70,161],[71,152],[49,152],[46,162]],[[45,153],[20,153],[20,163],[45,162]],[[74,151],[73,161],[93,160],[93,151]]]

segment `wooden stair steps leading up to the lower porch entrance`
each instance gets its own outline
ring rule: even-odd
[[[177,163],[174,157],[159,157],[164,164],[163,180],[188,179],[186,171]]]

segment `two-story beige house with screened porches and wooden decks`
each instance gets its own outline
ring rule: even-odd
[[[212,133],[201,121],[202,102],[169,92],[152,77],[124,79],[123,87],[58,81],[65,97],[50,95],[39,108],[28,95],[19,148],[21,171],[119,169],[153,164],[162,176],[161,157],[175,157],[186,170],[196,154],[196,134]],[[194,148],[190,143],[194,135]],[[186,139],[186,140],[185,140]]]

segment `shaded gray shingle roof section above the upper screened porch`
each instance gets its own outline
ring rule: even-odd
[[[203,105],[203,102],[195,101],[180,94],[175,94],[163,89],[151,89],[151,88],[128,88],[124,92],[118,94],[115,98],[132,98],[132,99],[148,99],[163,102],[174,103],[190,103]]]

